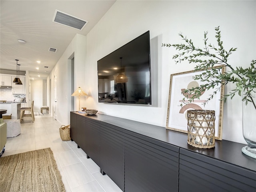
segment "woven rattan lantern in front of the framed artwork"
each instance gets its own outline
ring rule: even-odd
[[[214,135],[214,110],[188,110],[188,144],[198,148],[213,148]]]

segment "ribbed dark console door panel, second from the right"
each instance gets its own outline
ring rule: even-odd
[[[125,131],[125,191],[177,192],[179,148]]]

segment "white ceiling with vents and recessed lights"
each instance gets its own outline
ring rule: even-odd
[[[0,0],[0,69],[16,71],[18,59],[20,71],[28,70],[30,78],[46,79],[74,36],[88,34],[115,1]],[[52,22],[55,10],[88,23],[80,31]],[[49,48],[57,52],[49,52]]]

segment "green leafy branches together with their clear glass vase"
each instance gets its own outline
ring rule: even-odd
[[[231,99],[235,94],[242,96],[244,103],[243,110],[250,107],[250,111],[243,111],[243,135],[244,139],[248,143],[242,151],[256,158],[256,123],[252,122],[256,116],[256,60],[252,60],[248,68],[232,67],[228,63],[229,56],[236,51],[236,48],[230,48],[228,51],[222,46],[223,42],[220,36],[219,27],[215,28],[216,40],[218,46],[215,47],[213,44],[208,44],[207,34],[204,32],[204,48],[198,48],[194,46],[192,40],[183,36],[182,33],[179,36],[182,38],[184,43],[180,44],[162,44],[165,47],[174,47],[176,50],[181,51],[174,55],[172,58],[176,64],[183,61],[196,64],[194,71],[205,70],[200,75],[195,75],[194,80],[200,80],[205,84],[194,88],[188,88],[183,93],[193,95],[191,98],[186,98],[189,102],[193,102],[194,99],[199,98],[202,91],[215,89],[212,95],[206,100],[204,105],[213,98],[213,96],[220,90],[221,86],[228,83],[236,84],[236,88],[231,90],[228,94],[223,96],[223,100],[226,101],[228,97]],[[222,65],[226,67],[227,72],[220,73],[219,70],[214,70],[214,66]],[[212,81],[212,79],[215,81]],[[183,99],[182,104],[187,104]],[[181,106],[182,106],[181,104]],[[245,120],[245,118],[247,119]],[[249,121],[249,122],[248,122]],[[248,122],[246,125],[245,123]]]

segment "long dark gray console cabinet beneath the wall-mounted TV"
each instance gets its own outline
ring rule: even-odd
[[[71,138],[124,192],[256,191],[244,144],[187,144],[187,134],[132,120],[70,113]]]

